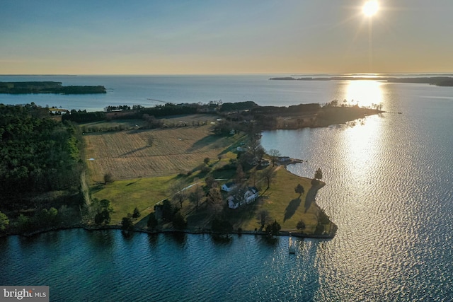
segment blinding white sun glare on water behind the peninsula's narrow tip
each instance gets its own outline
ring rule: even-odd
[[[383,99],[381,81],[353,80],[349,81],[346,88],[348,104],[374,108],[375,105],[382,104]]]

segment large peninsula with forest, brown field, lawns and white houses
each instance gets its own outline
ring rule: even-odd
[[[336,225],[315,201],[321,169],[308,178],[289,173],[286,165],[302,158],[264,150],[260,132],[382,112],[332,102],[167,103],[65,114],[0,106],[7,121],[0,127],[8,154],[0,175],[4,234],[77,226],[332,238]]]

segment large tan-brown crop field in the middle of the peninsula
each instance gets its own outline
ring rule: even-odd
[[[91,182],[103,182],[105,173],[111,173],[114,180],[187,173],[200,165],[203,158],[232,156],[226,149],[244,137],[213,135],[211,128],[208,124],[86,134]]]

